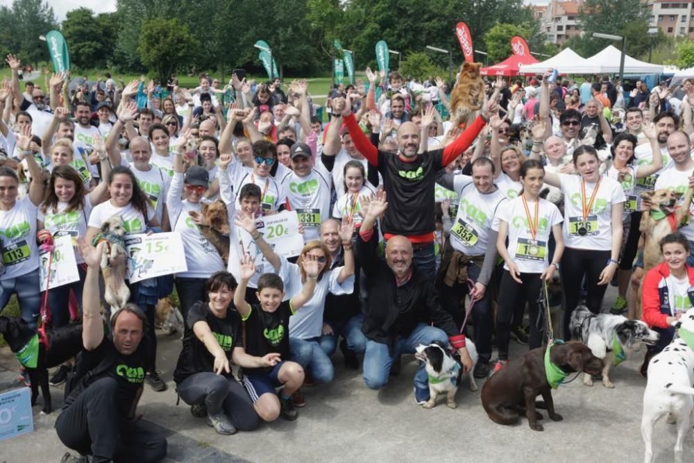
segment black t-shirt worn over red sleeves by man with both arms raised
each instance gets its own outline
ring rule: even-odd
[[[437,171],[444,167],[442,162],[443,149],[420,154],[414,162],[378,150],[378,171],[390,204],[381,222],[383,233],[407,236],[434,232],[434,183]]]

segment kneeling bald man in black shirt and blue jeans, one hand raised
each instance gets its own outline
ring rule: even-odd
[[[412,264],[409,240],[402,235],[393,236],[386,245],[385,260],[376,253],[378,234],[374,233],[373,224],[388,209],[385,197],[382,191],[376,193],[357,237],[357,255],[369,291],[362,325],[366,336],[364,382],[371,389],[380,389],[388,382],[391,367],[400,354],[414,353],[417,344],[434,341],[457,349],[463,369],[468,372],[473,364],[465,336],[439,305],[434,282]],[[414,400],[418,405],[429,400],[424,364],[414,376]]]

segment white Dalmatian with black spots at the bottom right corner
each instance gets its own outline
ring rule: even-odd
[[[679,335],[648,364],[648,384],[643,392],[641,436],[645,444],[645,463],[653,462],[652,437],[655,423],[668,415],[668,423],[677,423],[675,462],[682,463],[683,441],[691,432],[694,412],[694,309],[677,322]],[[691,461],[691,459],[689,459]]]

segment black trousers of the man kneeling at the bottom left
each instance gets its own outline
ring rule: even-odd
[[[158,462],[167,439],[144,420],[125,421],[118,413],[118,382],[101,378],[87,387],[56,420],[58,438],[92,462]]]

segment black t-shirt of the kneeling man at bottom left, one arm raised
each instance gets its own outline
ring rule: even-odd
[[[105,358],[112,358],[114,361],[105,372],[96,374],[92,378],[88,375],[83,376],[74,391],[72,391],[65,401],[63,408],[66,408],[75,398],[87,387],[90,387],[95,380],[100,378],[115,378],[118,382],[117,402],[118,412],[121,416],[128,416],[135,401],[137,390],[144,383],[144,339],[137,346],[137,350],[130,355],[122,355],[116,351],[113,342],[108,337],[104,337],[99,347],[93,351],[83,350],[78,364],[78,371],[90,371],[99,367]]]

